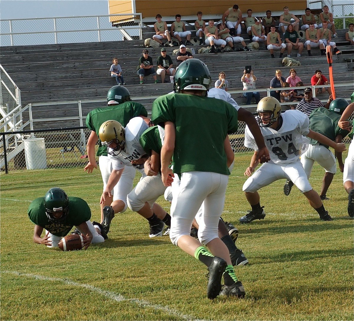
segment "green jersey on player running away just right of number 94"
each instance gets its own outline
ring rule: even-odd
[[[335,141],[337,135],[342,135],[344,138],[349,134],[348,130],[338,127],[338,120],[341,118],[341,115],[331,112],[326,108],[319,107],[314,109],[309,118],[309,128],[326,136],[332,141]],[[310,139],[310,144],[315,145],[316,143],[316,140]],[[326,146],[324,144],[321,145]],[[329,148],[328,146],[326,147]]]

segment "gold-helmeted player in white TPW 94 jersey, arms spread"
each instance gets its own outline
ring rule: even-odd
[[[270,162],[263,164],[251,176],[258,165],[257,146],[254,138],[246,126],[245,146],[253,148],[255,153],[252,156],[250,166],[245,171],[249,176],[242,190],[250,203],[252,210],[240,218],[241,223],[250,223],[256,219],[264,219],[265,213],[259,203],[258,190],[272,182],[287,178],[294,182],[310,205],[320,215],[321,220],[331,221],[332,218],[325,210],[318,193],[312,189],[306,173],[299,159],[299,152],[302,146],[302,135],[333,147],[336,151],[342,152],[346,149],[345,144],[335,143],[329,138],[309,129],[309,118],[306,114],[289,110],[281,114],[279,101],[274,97],[264,97],[257,105],[257,121],[261,128],[265,145],[271,155]]]

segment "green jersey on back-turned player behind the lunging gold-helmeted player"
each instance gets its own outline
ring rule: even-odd
[[[86,117],[86,126],[87,128],[95,131],[98,136],[100,126],[107,120],[116,120],[123,127],[125,127],[129,123],[129,120],[138,116],[148,116],[148,112],[145,107],[135,101],[126,101],[119,105],[111,105],[93,109]],[[102,146],[101,141],[99,142],[96,155],[107,156],[107,147]]]

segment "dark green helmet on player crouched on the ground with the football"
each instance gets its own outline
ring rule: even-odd
[[[68,195],[59,187],[51,188],[44,197],[45,214],[52,222],[61,222],[69,214]],[[56,218],[53,214],[62,212],[62,216]]]

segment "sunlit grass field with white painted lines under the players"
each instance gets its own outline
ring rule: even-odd
[[[99,170],[1,174],[1,320],[353,320],[353,219],[342,174],[325,201],[333,221],[320,221],[296,187],[285,196],[278,181],[260,191],[265,219],[241,225],[250,158],[236,154],[223,213],[250,261],[235,269],[243,300],[207,299],[206,267],[167,236],[149,239],[147,221],[129,209],[113,219],[109,240],[86,251],[33,243],[27,208],[50,187],[85,199],[99,220]],[[316,191],[323,173],[314,166]]]

